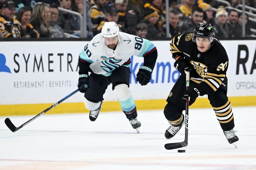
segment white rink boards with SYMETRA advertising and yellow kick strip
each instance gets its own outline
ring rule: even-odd
[[[143,58],[131,57],[130,88],[139,110],[164,109],[179,77],[169,41],[153,41],[158,51],[151,82],[141,86],[136,74]],[[221,41],[229,56],[228,97],[232,106],[256,106],[256,40]],[[35,115],[77,89],[78,55],[85,41],[0,42],[0,115]],[[125,50],[125,49],[124,49]],[[121,111],[110,85],[102,111]],[[191,108],[210,107],[207,96]],[[87,113],[78,92],[49,113]]]

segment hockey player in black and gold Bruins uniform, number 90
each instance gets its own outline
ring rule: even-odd
[[[200,95],[208,95],[217,120],[230,144],[236,146],[239,140],[233,130],[234,115],[227,97],[228,55],[217,39],[214,27],[200,23],[193,32],[177,35],[170,42],[170,51],[175,59],[174,66],[181,75],[173,86],[164,108],[164,115],[170,127],[165,132],[167,139],[172,138],[184,125],[182,111],[188,97],[189,106]],[[190,83],[186,90],[185,72],[190,71]]]

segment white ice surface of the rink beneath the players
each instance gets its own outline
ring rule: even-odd
[[[256,107],[233,107],[237,148],[229,144],[212,109],[189,109],[188,146],[166,150],[184,140],[185,127],[165,139],[169,123],[163,110],[138,111],[140,134],[120,112],[43,115],[16,132],[0,117],[0,170],[249,170],[256,169]],[[38,113],[36,113],[38,114]],[[36,115],[35,114],[35,115]],[[9,116],[18,127],[33,116]]]

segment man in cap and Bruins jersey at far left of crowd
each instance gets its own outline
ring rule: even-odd
[[[13,19],[16,13],[15,4],[12,0],[6,0],[0,4],[0,30],[4,38],[20,38],[24,36],[20,22]]]

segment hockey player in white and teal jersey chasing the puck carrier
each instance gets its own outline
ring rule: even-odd
[[[119,32],[115,22],[106,22],[101,33],[94,36],[79,55],[78,89],[84,93],[85,107],[91,110],[90,120],[95,121],[100,113],[103,94],[112,83],[112,90],[124,114],[139,133],[141,123],[129,89],[132,55],[144,57],[136,80],[147,85],[156,63],[156,47],[146,39]]]

